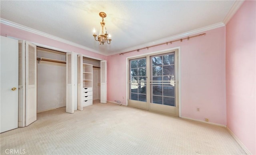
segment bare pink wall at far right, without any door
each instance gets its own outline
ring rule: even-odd
[[[245,1],[226,25],[227,126],[256,154],[256,1]]]

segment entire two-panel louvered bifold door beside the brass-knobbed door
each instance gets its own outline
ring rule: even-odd
[[[36,46],[30,42],[19,40],[19,114],[18,126],[28,126],[36,121],[37,113],[37,78],[36,78]]]

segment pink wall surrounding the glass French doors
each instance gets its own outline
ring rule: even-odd
[[[126,58],[180,46],[181,115],[226,125],[225,27],[206,36],[108,56],[108,101],[126,104]],[[122,98],[124,97],[124,99]],[[200,107],[200,112],[196,111]]]

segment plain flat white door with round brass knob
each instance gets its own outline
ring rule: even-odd
[[[18,40],[1,36],[0,132],[18,127]]]

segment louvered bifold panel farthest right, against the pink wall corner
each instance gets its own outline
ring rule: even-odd
[[[100,103],[107,103],[107,61],[100,61]]]

